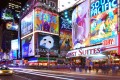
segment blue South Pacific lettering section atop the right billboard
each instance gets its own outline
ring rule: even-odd
[[[91,3],[91,17],[117,7],[117,0],[96,0]]]

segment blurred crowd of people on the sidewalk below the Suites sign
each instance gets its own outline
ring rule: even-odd
[[[110,74],[117,75],[120,72],[120,64],[112,63],[112,64],[94,64],[89,66],[81,66],[81,65],[69,65],[69,69],[73,71],[79,70],[80,72],[91,73],[91,71],[95,71],[96,74]]]

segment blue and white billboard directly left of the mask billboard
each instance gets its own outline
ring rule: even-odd
[[[34,56],[33,35],[22,39],[22,57]]]

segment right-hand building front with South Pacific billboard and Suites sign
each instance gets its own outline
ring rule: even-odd
[[[92,62],[119,63],[118,1],[86,0],[72,13],[73,50],[67,58],[91,65]],[[88,5],[89,4],[89,5]],[[111,5],[110,5],[111,4]],[[86,5],[88,5],[86,7]],[[86,61],[82,62],[82,58]]]

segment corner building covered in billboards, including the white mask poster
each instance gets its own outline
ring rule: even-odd
[[[51,60],[59,53],[59,15],[51,8],[55,4],[51,0],[29,0],[27,5],[29,9],[25,7],[20,19],[21,57],[30,64],[37,61],[37,65],[48,65],[50,56],[50,64],[55,64],[55,59]]]

